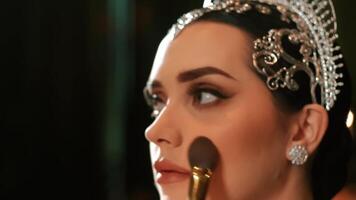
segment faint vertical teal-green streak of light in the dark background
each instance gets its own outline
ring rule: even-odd
[[[134,77],[133,9],[129,0],[108,0],[109,67],[107,80],[106,165],[109,200],[127,199],[125,193],[125,130],[129,87]]]

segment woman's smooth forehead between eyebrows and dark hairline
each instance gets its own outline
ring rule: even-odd
[[[161,42],[150,80],[202,66],[214,66],[236,74],[250,66],[252,40],[243,30],[221,22],[200,21],[186,27],[176,38]]]

